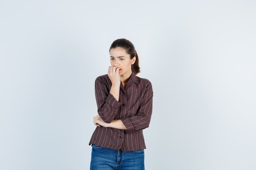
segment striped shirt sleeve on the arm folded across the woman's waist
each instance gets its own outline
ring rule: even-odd
[[[126,126],[126,133],[134,132],[135,130],[148,128],[151,115],[152,115],[152,104],[153,104],[153,90],[152,85],[148,81],[144,97],[141,101],[141,107],[136,115],[131,117],[124,117],[121,119],[124,126]]]

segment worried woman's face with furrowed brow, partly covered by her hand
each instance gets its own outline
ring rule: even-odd
[[[126,53],[126,50],[120,47],[110,49],[110,64],[111,66],[118,67],[119,75],[129,76],[132,74],[132,64],[134,64],[136,57],[130,59],[130,55]]]

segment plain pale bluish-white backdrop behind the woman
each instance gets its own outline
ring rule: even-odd
[[[0,169],[88,170],[94,80],[130,40],[146,170],[256,169],[255,0],[1,0]]]

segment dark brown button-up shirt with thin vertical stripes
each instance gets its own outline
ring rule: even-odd
[[[98,114],[106,123],[121,119],[127,130],[96,127],[89,145],[123,151],[146,149],[142,130],[148,128],[152,114],[153,91],[148,79],[134,73],[124,88],[120,85],[119,101],[110,94],[111,81],[108,75],[95,80],[95,96]]]

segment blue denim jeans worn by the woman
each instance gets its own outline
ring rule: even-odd
[[[124,152],[93,144],[90,170],[145,170],[144,150]]]

